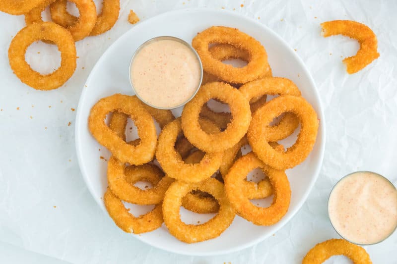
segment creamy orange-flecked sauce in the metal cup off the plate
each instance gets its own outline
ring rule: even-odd
[[[356,244],[374,244],[396,229],[397,189],[376,173],[352,173],[333,188],[328,212],[343,238]]]

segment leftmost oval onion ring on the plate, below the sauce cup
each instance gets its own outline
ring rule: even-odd
[[[106,114],[117,110],[126,113],[134,120],[140,143],[132,146],[104,122]],[[102,98],[92,108],[88,119],[91,134],[121,162],[140,165],[153,159],[157,144],[154,121],[142,103],[135,96],[115,94]]]

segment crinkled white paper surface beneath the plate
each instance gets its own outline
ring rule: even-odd
[[[373,170],[397,184],[397,2],[331,2],[121,0],[115,27],[78,42],[76,72],[64,87],[50,92],[29,88],[12,74],[7,49],[24,21],[22,16],[1,13],[1,263],[295,264],[316,243],[337,237],[326,205],[340,177],[354,170]],[[145,19],[196,6],[235,8],[243,15],[260,17],[259,23],[279,34],[306,63],[320,90],[327,121],[323,168],[302,209],[264,242],[215,257],[170,254],[118,229],[88,192],[74,150],[75,111],[71,108],[76,108],[82,86],[99,56],[133,26],[127,22],[129,10]],[[377,34],[380,58],[348,75],[341,56],[354,54],[358,44],[340,36],[322,38],[319,24],[333,19],[369,25]],[[27,59],[34,68],[48,72],[60,60],[54,60],[54,53],[54,47],[32,45]],[[365,248],[375,264],[397,263],[396,232],[381,244]],[[343,257],[336,257],[327,264],[342,261]]]

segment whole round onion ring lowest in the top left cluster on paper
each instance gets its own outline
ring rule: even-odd
[[[54,42],[61,52],[61,66],[50,74],[40,74],[25,60],[27,48],[38,40]],[[24,27],[16,34],[8,49],[8,59],[21,82],[37,90],[53,90],[62,86],[76,69],[76,47],[65,28],[52,22],[37,23]]]

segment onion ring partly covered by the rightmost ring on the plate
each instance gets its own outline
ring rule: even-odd
[[[281,77],[267,77],[244,84],[240,87],[240,92],[248,100],[258,98],[263,95],[293,95],[301,96],[298,87],[289,79]],[[255,109],[251,106],[251,111]],[[293,113],[285,113],[280,121],[267,128],[267,141],[276,142],[290,136],[299,126],[299,119]]]

